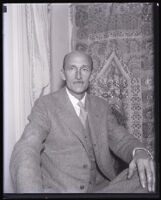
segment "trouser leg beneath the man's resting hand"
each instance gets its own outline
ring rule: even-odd
[[[123,170],[112,181],[105,180],[94,186],[91,193],[148,193],[147,187],[141,186],[138,172],[135,171],[131,179],[127,178],[128,169]]]

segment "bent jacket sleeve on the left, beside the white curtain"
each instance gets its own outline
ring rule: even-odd
[[[10,174],[16,193],[41,193],[43,185],[40,154],[50,129],[42,100],[35,102],[28,119],[29,123],[11,155]]]

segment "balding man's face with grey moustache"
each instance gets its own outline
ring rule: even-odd
[[[67,88],[74,95],[81,95],[87,90],[92,72],[91,61],[84,54],[73,53],[67,57],[64,66],[64,79]]]

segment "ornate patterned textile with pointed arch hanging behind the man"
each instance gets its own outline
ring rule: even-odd
[[[152,4],[72,4],[71,17],[72,48],[93,58],[90,93],[153,152]]]

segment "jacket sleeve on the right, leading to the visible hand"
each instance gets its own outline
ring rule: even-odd
[[[107,130],[110,149],[127,163],[133,158],[132,152],[134,148],[145,147],[126,128],[118,124],[110,109],[107,111]]]

